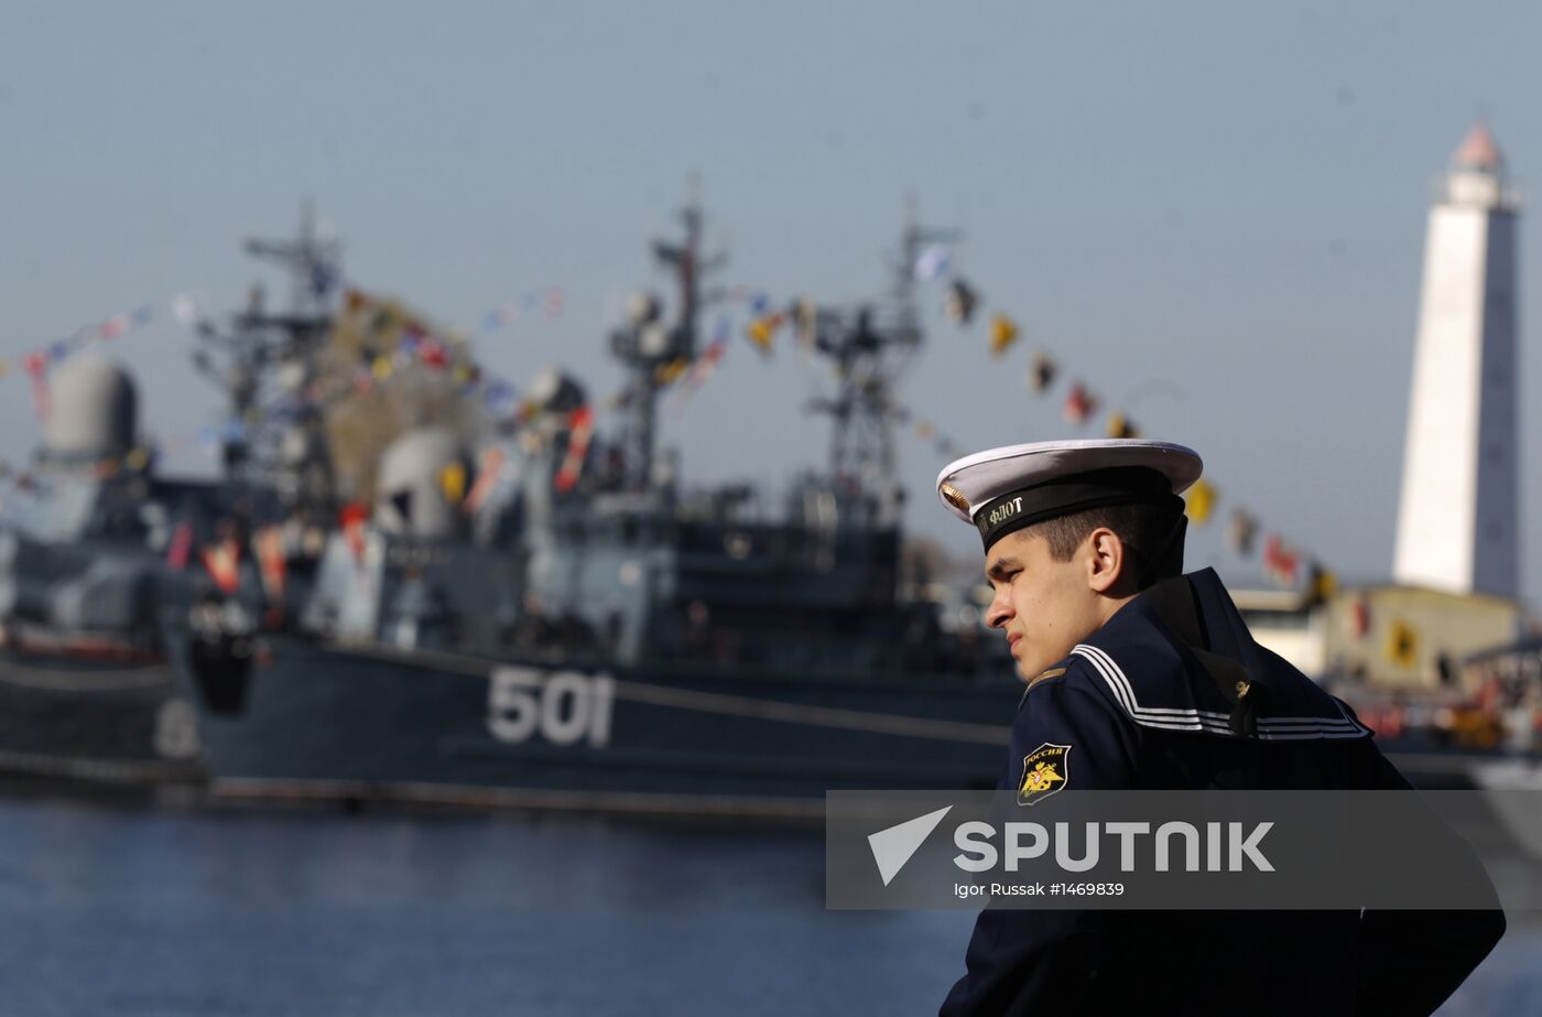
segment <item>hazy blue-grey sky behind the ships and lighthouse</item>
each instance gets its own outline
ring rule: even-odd
[[[0,356],[179,292],[233,310],[251,233],[302,198],[353,279],[475,326],[558,284],[567,310],[481,340],[520,383],[564,364],[609,392],[621,296],[662,286],[646,241],[702,174],[728,284],[822,301],[885,282],[904,196],[967,231],[958,264],[1027,340],[941,319],[913,411],[973,451],[1075,437],[1050,350],[1147,437],[1198,448],[1223,511],[1352,579],[1391,571],[1431,181],[1485,116],[1542,176],[1533,3],[26,3],[0,5]],[[1523,463],[1542,448],[1542,321],[1522,225]],[[281,287],[270,287],[278,289]],[[159,323],[114,347],[162,438],[217,417]],[[736,336],[666,441],[692,478],[783,480],[822,460],[823,369]],[[26,384],[0,380],[0,455],[29,454]],[[1089,431],[1092,434],[1092,431]],[[913,529],[936,451],[902,437]],[[182,471],[211,463],[187,448]],[[1542,503],[1528,468],[1525,505]],[[1534,515],[1534,512],[1531,512]],[[1218,531],[1218,526],[1212,526]],[[1523,588],[1542,594],[1542,532]],[[1258,582],[1198,532],[1190,563]]]

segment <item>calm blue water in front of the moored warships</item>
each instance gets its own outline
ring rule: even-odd
[[[934,1014],[973,920],[825,912],[817,832],[35,799],[0,829],[0,1009],[39,1017]],[[1533,1012],[1536,926],[1442,1011]]]

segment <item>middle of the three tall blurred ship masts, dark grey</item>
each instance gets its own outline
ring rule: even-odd
[[[660,321],[655,295],[637,293],[628,306],[628,323],[611,333],[611,352],[629,375],[623,424],[623,483],[628,491],[646,491],[654,485],[658,390],[669,383],[672,366],[689,364],[695,358],[697,318],[703,304],[711,302],[711,296],[703,296],[702,282],[728,262],[723,253],[702,256],[705,218],[694,179],[678,216],[685,227],[683,239],[660,239],[652,245],[654,259],[674,275],[678,289],[672,319]]]

